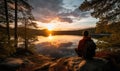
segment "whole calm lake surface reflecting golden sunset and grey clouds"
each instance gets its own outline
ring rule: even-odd
[[[74,35],[56,35],[51,34],[48,37],[38,36],[38,41],[35,42],[36,51],[40,54],[59,58],[75,56],[74,48],[78,46],[82,36]]]

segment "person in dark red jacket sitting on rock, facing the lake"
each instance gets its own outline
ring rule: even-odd
[[[88,31],[83,33],[83,39],[79,41],[78,48],[75,49],[76,53],[83,58],[91,58],[95,55],[96,45],[89,37]]]

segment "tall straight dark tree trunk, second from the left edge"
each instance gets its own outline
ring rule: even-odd
[[[14,28],[14,39],[15,39],[15,47],[17,48],[18,47],[18,35],[17,35],[17,22],[18,22],[18,17],[17,17],[17,0],[15,0],[15,28]]]

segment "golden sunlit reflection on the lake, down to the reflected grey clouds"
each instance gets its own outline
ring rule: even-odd
[[[49,43],[50,45],[59,46],[60,44],[64,44],[67,42],[73,42],[73,45],[77,45],[81,36],[72,36],[72,35],[53,35],[49,33],[46,36],[37,36],[38,41],[35,44]],[[45,44],[46,46],[46,44]]]

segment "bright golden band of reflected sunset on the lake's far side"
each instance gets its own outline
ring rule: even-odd
[[[75,36],[75,35],[52,35],[49,34],[48,37],[45,36],[37,36],[38,41],[35,44],[39,44],[42,42],[74,42],[77,43],[82,36]]]

